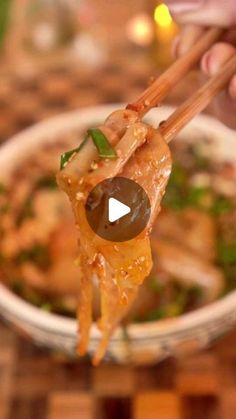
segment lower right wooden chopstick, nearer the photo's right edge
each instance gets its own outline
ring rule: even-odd
[[[199,112],[201,112],[227,84],[236,73],[236,54],[221,68],[221,70],[209,79],[190,98],[182,103],[170,117],[161,123],[159,131],[167,143]]]

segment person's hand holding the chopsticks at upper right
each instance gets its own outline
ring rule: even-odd
[[[173,44],[176,57],[187,52],[205,30],[205,27],[227,28],[221,42],[213,45],[201,59],[201,70],[206,77],[216,74],[220,67],[236,53],[235,0],[166,0],[170,13],[181,31]],[[215,115],[236,129],[236,74],[227,89],[212,102]]]

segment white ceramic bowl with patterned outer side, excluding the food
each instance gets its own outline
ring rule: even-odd
[[[55,138],[76,128],[103,120],[117,105],[88,108],[59,115],[41,122],[10,139],[0,149],[0,167],[8,176],[15,164],[39,144],[55,141]],[[150,112],[148,120],[153,125],[165,119],[173,109],[158,108]],[[236,162],[235,132],[208,116],[196,117],[181,133],[184,141],[193,138],[210,138],[213,144],[209,153],[215,158]],[[35,342],[69,355],[75,354],[76,321],[63,316],[46,313],[20,299],[0,284],[0,312],[19,331]],[[119,363],[152,363],[169,355],[182,355],[199,350],[210,344],[236,324],[236,291],[204,308],[176,319],[131,324],[127,336],[118,328],[107,352],[107,358]],[[93,353],[99,339],[99,331],[92,328],[89,352]]]

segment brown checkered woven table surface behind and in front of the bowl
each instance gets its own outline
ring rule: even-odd
[[[124,70],[125,69],[125,70]],[[130,101],[153,74],[147,61],[119,60],[96,77],[53,68],[0,75],[0,141],[78,107]],[[93,81],[91,81],[93,80]],[[192,81],[172,94],[181,99]],[[151,367],[72,363],[0,323],[0,419],[229,419],[236,411],[236,333],[184,360]]]

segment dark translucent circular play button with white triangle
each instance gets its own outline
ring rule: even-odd
[[[144,189],[125,177],[113,177],[98,183],[90,192],[85,209],[94,233],[113,242],[138,236],[151,213]]]

